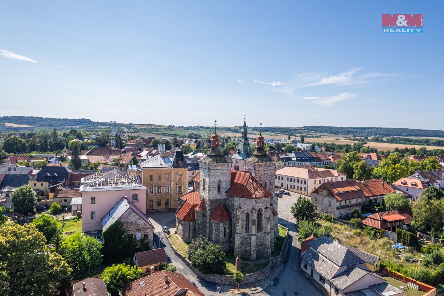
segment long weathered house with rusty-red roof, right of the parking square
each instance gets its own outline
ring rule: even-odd
[[[325,182],[311,195],[314,209],[317,213],[329,213],[333,217],[348,215],[354,209],[361,211],[363,205],[369,200],[373,204],[379,204],[385,194],[397,192],[386,181],[373,179],[358,182],[354,179]]]

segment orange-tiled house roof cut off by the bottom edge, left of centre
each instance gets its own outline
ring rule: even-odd
[[[161,270],[123,287],[123,296],[205,296],[180,272]]]

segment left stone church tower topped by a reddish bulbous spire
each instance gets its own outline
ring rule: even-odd
[[[202,209],[204,208],[205,211],[199,211],[201,213],[196,213],[199,216],[206,218],[206,223],[202,223],[201,225],[197,226],[205,227],[205,229],[196,229],[196,233],[205,233],[206,237],[210,238],[210,240],[212,240],[212,237],[222,237],[223,234],[219,235],[219,233],[224,231],[223,228],[226,227],[226,223],[228,222],[214,222],[211,220],[216,208],[221,205],[225,210],[230,209],[229,201],[225,192],[230,188],[231,160],[227,159],[219,149],[219,135],[216,133],[216,123],[217,122],[214,121],[214,134],[211,135],[210,151],[208,151],[204,158],[199,160],[199,193],[201,199],[204,200],[202,205],[199,205],[199,208],[202,207]],[[218,209],[218,211],[220,210],[221,209]],[[226,215],[224,217],[226,217]],[[218,222],[225,223],[224,225],[219,225],[220,223]]]

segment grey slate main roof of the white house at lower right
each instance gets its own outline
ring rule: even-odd
[[[331,238],[325,235],[319,237],[317,240],[309,243],[309,246],[322,256],[333,261],[338,266],[357,265],[365,263],[360,257],[355,255],[352,251],[345,248],[345,246],[338,244]]]

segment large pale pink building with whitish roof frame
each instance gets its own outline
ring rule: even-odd
[[[146,213],[147,188],[122,171],[95,173],[82,178],[81,184],[82,232],[102,230],[102,217],[122,197],[127,197],[133,205]]]

